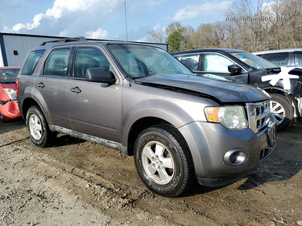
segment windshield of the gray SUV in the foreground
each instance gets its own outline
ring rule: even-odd
[[[193,74],[160,48],[133,44],[111,44],[108,48],[132,79],[155,74]]]

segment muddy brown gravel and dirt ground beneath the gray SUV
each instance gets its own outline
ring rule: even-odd
[[[1,225],[298,225],[302,220],[302,121],[277,134],[259,169],[224,187],[195,184],[178,198],[151,193],[133,157],[59,134],[30,140],[25,122],[0,122]],[[5,145],[5,146],[3,146]],[[302,224],[300,224],[302,225]]]

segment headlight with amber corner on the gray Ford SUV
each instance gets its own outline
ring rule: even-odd
[[[231,130],[248,128],[248,121],[243,106],[206,107],[207,121],[219,122]]]

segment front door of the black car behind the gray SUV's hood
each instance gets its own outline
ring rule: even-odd
[[[201,69],[196,73],[215,74],[231,80],[235,80],[237,82],[248,83],[249,72],[242,68],[242,72],[240,73],[230,73],[228,66],[232,64],[236,63],[222,54],[204,53],[201,60]]]

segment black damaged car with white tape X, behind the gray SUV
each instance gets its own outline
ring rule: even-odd
[[[214,74],[265,90],[271,114],[282,130],[297,122],[302,111],[302,68],[280,67],[238,49],[194,49],[171,53],[196,74]]]

